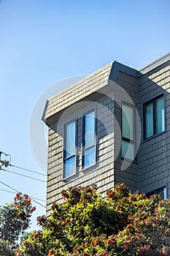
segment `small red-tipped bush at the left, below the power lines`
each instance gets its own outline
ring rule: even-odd
[[[15,255],[20,234],[28,228],[35,207],[28,195],[18,193],[14,203],[0,206],[0,255]]]

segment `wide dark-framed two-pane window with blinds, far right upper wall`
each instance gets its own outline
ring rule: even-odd
[[[164,97],[156,97],[144,104],[144,140],[165,131]]]

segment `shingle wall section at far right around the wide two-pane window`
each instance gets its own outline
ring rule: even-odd
[[[165,94],[166,132],[144,141],[139,148],[139,189],[149,192],[167,184],[170,195],[170,62],[139,78],[139,113],[143,129],[143,103]]]

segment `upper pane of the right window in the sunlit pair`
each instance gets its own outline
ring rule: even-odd
[[[95,111],[85,115],[84,140],[85,148],[95,143]]]

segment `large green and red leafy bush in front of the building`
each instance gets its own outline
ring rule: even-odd
[[[42,231],[31,233],[17,256],[170,255],[170,200],[132,194],[125,184],[107,191],[107,199],[96,186],[61,195],[64,203],[37,218]]]

